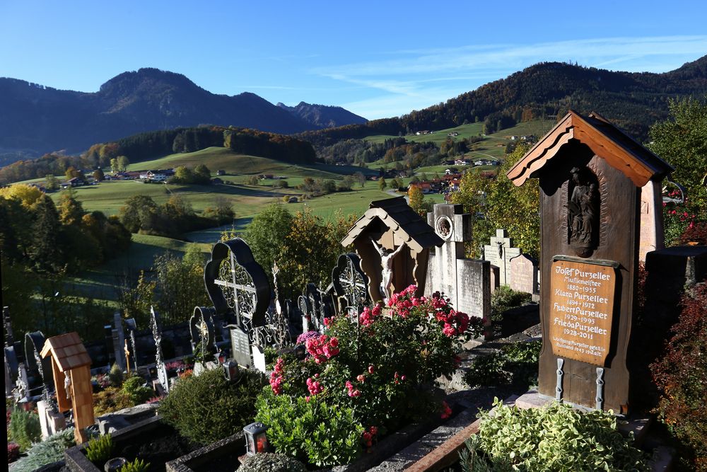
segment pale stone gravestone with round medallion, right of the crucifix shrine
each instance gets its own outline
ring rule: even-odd
[[[430,253],[426,294],[444,292],[456,310],[490,320],[489,262],[464,258],[464,241],[472,239],[471,215],[463,213],[462,205],[438,204],[427,222],[444,243]]]

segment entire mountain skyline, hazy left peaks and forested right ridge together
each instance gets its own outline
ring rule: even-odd
[[[570,108],[600,113],[645,140],[650,126],[667,117],[670,100],[684,96],[707,96],[707,56],[662,74],[543,62],[445,103],[370,122],[340,107],[272,105],[254,93],[216,95],[182,74],[158,69],[124,72],[95,93],[0,78],[0,165],[175,127],[233,125],[298,134],[315,146],[327,146],[341,139],[474,121],[498,129],[537,117],[561,117]]]

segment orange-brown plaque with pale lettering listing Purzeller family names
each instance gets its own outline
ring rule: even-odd
[[[612,338],[616,284],[611,265],[554,261],[549,323],[554,355],[604,366]]]

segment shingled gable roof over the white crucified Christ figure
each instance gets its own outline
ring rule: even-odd
[[[407,205],[404,197],[397,197],[370,202],[366,213],[349,229],[341,245],[349,246],[353,243],[375,218],[391,228],[395,236],[405,241],[415,252],[419,253],[433,246],[442,246],[444,243],[427,221]]]

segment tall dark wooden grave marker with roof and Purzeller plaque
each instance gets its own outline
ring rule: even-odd
[[[508,171],[539,179],[539,393],[627,413],[641,188],[672,170],[596,114],[570,111]]]

